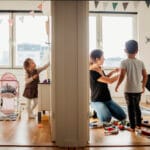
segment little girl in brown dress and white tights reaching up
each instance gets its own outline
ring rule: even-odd
[[[49,63],[43,67],[36,68],[36,64],[31,58],[24,61],[25,69],[25,89],[23,96],[27,98],[28,118],[34,118],[33,110],[37,106],[39,73],[48,68]],[[33,105],[32,102],[33,101]]]

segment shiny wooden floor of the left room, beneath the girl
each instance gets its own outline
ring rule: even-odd
[[[0,145],[53,145],[48,121],[39,128],[36,119],[23,115],[18,121],[0,121]]]

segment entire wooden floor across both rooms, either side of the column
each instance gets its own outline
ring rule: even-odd
[[[150,105],[149,105],[150,106]],[[150,116],[144,116],[150,121]],[[72,150],[149,150],[150,137],[129,131],[106,136],[104,129],[90,129],[89,145]],[[59,150],[51,142],[49,122],[39,128],[36,119],[27,119],[26,113],[18,121],[0,121],[0,150]],[[68,148],[71,150],[71,148]]]

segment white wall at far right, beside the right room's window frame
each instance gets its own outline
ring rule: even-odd
[[[146,37],[150,38],[150,7],[142,1],[138,7],[139,57],[144,61],[147,73],[150,74],[150,42],[146,43]],[[150,95],[148,90],[144,93],[144,101],[146,95]]]

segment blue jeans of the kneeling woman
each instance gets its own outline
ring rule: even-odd
[[[110,122],[112,117],[119,121],[126,119],[124,110],[113,100],[106,102],[91,102],[91,107],[95,110],[101,122]]]

